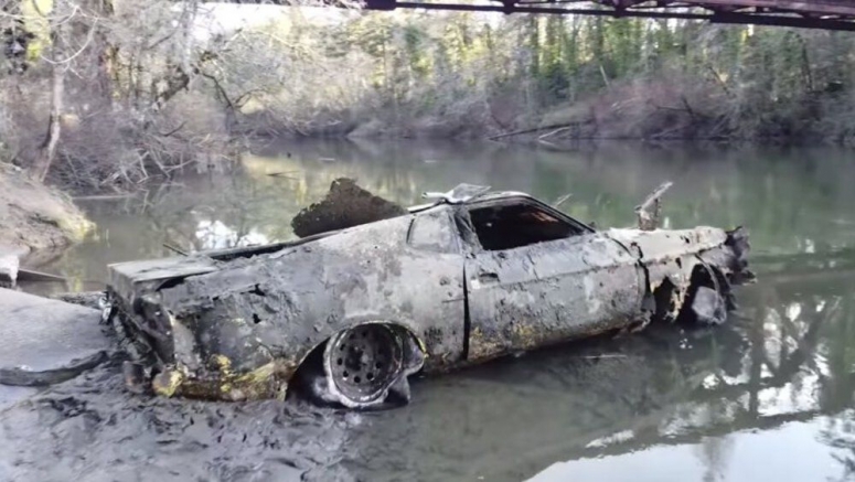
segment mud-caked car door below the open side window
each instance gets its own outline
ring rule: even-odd
[[[535,217],[567,223],[537,204],[525,208]],[[621,245],[592,231],[544,242],[522,237],[526,244],[521,246],[475,246],[466,260],[468,360],[600,333],[637,318],[643,272]]]

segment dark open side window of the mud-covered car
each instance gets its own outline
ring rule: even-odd
[[[585,231],[535,205],[517,203],[469,210],[481,246],[491,251],[563,239]]]

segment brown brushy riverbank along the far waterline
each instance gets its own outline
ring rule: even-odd
[[[418,100],[350,109],[288,133],[303,138],[490,139],[565,146],[577,141],[737,142],[778,146],[855,144],[846,106],[852,94],[831,87],[750,104],[709,75],[663,72],[613,82],[584,96],[524,103],[467,94],[453,109]],[[247,126],[260,131],[257,117]],[[267,126],[270,127],[270,126]],[[287,129],[284,129],[287,130]]]

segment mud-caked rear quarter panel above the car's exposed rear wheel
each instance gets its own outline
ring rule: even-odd
[[[458,361],[462,257],[409,246],[407,235],[418,216],[232,261],[161,290],[175,338],[174,362],[194,373],[222,372],[223,361],[237,373],[272,364],[287,379],[319,343],[370,321],[408,328],[430,366]]]

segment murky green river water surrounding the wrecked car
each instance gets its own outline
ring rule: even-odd
[[[309,444],[319,465],[312,480],[324,473],[363,481],[855,478],[855,153],[405,142],[267,151],[246,156],[233,172],[188,173],[147,195],[81,201],[98,229],[56,261],[53,269],[71,281],[52,289],[98,288],[87,281],[103,280],[105,264],[169,255],[163,243],[190,250],[288,238],[297,211],[343,175],[403,203],[459,182],[547,200],[571,193],[563,208],[598,226],[632,224],[633,205],[672,180],[666,226],[748,226],[759,281],[739,290],[741,308],[726,326],[660,326],[424,379],[408,407],[321,415],[327,421],[306,438],[287,431],[278,408],[242,409],[256,421],[269,418],[270,427],[258,429],[264,447],[246,447],[253,442],[246,432],[243,442],[235,436],[234,459],[207,442],[200,448],[199,438],[177,453],[175,446],[146,437],[160,433],[146,424],[139,424],[142,436],[128,439],[111,439],[114,429],[96,425],[90,443],[118,454],[84,467],[104,472],[118,460],[148,470],[158,465],[152,460],[174,460],[175,480],[292,480],[286,472],[306,479],[308,469],[277,457],[293,447],[307,452]],[[197,404],[171,407],[200,410]],[[181,437],[197,433],[190,430],[182,428]],[[268,431],[274,438],[287,432],[289,441],[268,447]],[[126,457],[142,452],[145,463]],[[189,462],[177,469],[181,460]],[[252,467],[258,476],[235,467]]]

